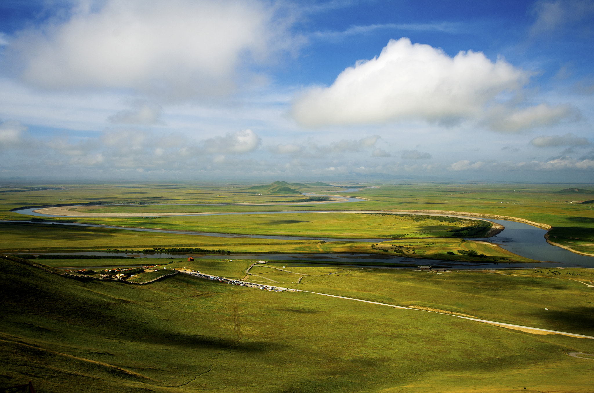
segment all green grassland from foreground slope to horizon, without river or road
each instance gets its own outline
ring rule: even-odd
[[[463,223],[416,221],[387,215],[300,214],[304,210],[450,210],[524,218],[553,226],[551,240],[594,252],[594,186],[573,185],[369,184],[353,193],[366,202],[319,205],[226,205],[163,207],[158,204],[300,201],[298,194],[266,194],[283,187],[327,192],[324,184],[242,183],[35,185],[0,189],[0,219],[24,220],[21,206],[133,203],[93,209],[189,209],[250,214],[168,218],[46,218],[47,221],[194,229],[209,232],[352,237],[349,242],[223,238],[173,233],[0,223],[5,251],[68,252],[156,247],[204,247],[233,253],[372,252],[454,261],[533,262],[483,242],[449,236]],[[48,187],[44,187],[48,186]],[[53,189],[48,189],[52,186]],[[569,191],[567,190],[569,188]],[[562,191],[563,192],[559,192]],[[257,195],[263,194],[263,195]],[[343,193],[348,194],[348,193]],[[343,195],[337,194],[337,195]],[[144,206],[149,205],[149,206]],[[141,207],[142,206],[142,207]],[[213,210],[215,208],[215,210]],[[186,210],[188,211],[188,210]],[[305,222],[308,221],[308,222]],[[242,232],[245,231],[245,232]],[[264,231],[264,232],[260,232]],[[318,234],[320,233],[320,234]],[[323,234],[322,234],[323,233]],[[381,243],[362,237],[394,237]],[[381,234],[381,235],[380,235]],[[412,236],[414,237],[414,236]],[[459,251],[483,253],[484,258]],[[446,252],[453,252],[454,255]],[[197,255],[198,256],[198,255]],[[218,258],[218,256],[217,256]],[[67,278],[30,264],[122,266],[163,264],[228,278],[246,277],[254,262],[179,259],[0,258],[0,386],[33,381],[40,393],[80,392],[511,392],[589,393],[592,360],[568,351],[594,353],[594,340],[537,335],[451,315],[393,309],[304,292],[268,292],[175,274],[147,285]],[[327,262],[326,262],[327,263]],[[415,264],[414,262],[407,262]],[[58,265],[59,264],[59,265]],[[357,263],[361,265],[361,262]],[[371,261],[369,264],[380,265]],[[443,310],[502,323],[594,335],[593,287],[588,269],[444,272],[323,267],[304,263],[254,266],[247,280],[426,310]],[[354,265],[354,264],[353,264]],[[285,268],[282,268],[285,266]],[[281,269],[281,270],[279,270]],[[150,280],[147,272],[138,280]],[[583,281],[583,283],[578,282]],[[548,309],[548,310],[545,310]]]

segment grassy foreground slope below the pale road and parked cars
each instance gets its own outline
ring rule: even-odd
[[[2,385],[32,380],[40,392],[77,386],[106,393],[523,386],[585,393],[594,382],[589,360],[563,353],[592,353],[594,340],[182,274],[131,286],[0,262]]]

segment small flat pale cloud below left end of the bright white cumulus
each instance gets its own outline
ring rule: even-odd
[[[319,158],[328,154],[340,154],[355,151],[363,151],[366,148],[374,147],[380,139],[379,135],[361,138],[359,140],[340,140],[331,142],[328,145],[320,145],[314,141],[308,141],[304,144],[279,144],[268,148],[274,154],[287,154],[294,157]]]

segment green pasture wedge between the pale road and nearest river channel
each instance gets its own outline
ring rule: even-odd
[[[189,268],[241,278],[255,261],[209,261],[208,265],[204,262],[189,262]],[[271,278],[283,287],[392,305],[441,309],[489,321],[594,336],[594,288],[578,282],[594,280],[592,269],[426,272],[312,267],[307,261],[271,262],[254,265],[249,272]],[[187,262],[182,264],[187,266]],[[303,278],[296,284],[299,277]],[[257,276],[249,277],[248,281],[266,282]]]

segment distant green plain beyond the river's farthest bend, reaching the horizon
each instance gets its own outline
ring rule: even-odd
[[[216,211],[277,211],[277,210],[450,210],[472,213],[498,214],[519,217],[526,220],[545,223],[553,228],[549,231],[551,240],[568,246],[576,251],[594,253],[594,204],[580,204],[586,201],[589,194],[572,194],[559,192],[571,185],[501,185],[501,184],[441,184],[441,183],[410,183],[389,184],[369,183],[379,188],[367,188],[353,192],[352,196],[369,199],[365,202],[330,203],[318,205],[228,205],[228,206],[192,206],[195,212]],[[45,185],[56,186],[61,185]],[[68,188],[43,189],[37,187],[27,192],[5,192],[0,194],[0,219],[23,220],[26,216],[10,211],[21,206],[36,206],[49,204],[77,204],[77,203],[135,203],[135,204],[178,204],[178,203],[242,203],[266,202],[279,195],[254,195],[247,189],[248,184],[229,183],[188,183],[168,184],[78,184],[65,185]],[[588,192],[594,190],[594,185],[580,185],[579,189]],[[16,191],[15,189],[12,189]],[[340,188],[328,186],[312,187],[308,191],[326,192],[339,191]],[[2,189],[0,191],[11,191]],[[302,191],[305,191],[302,190]],[[340,194],[343,195],[343,194]],[[259,199],[258,199],[259,198]],[[303,198],[289,195],[287,198]],[[585,198],[585,199],[584,199]],[[289,199],[286,199],[289,200]],[[116,207],[123,208],[123,207]],[[146,210],[146,207],[130,207],[131,209]],[[150,208],[150,206],[148,207]],[[155,207],[156,208],[156,207]],[[160,208],[160,207],[159,207]],[[169,208],[169,207],[168,207]],[[123,226],[157,227],[168,221],[172,227],[188,217],[169,218],[72,218],[69,220],[116,224]],[[46,220],[64,220],[63,218],[47,218]],[[159,221],[159,224],[156,224]]]

